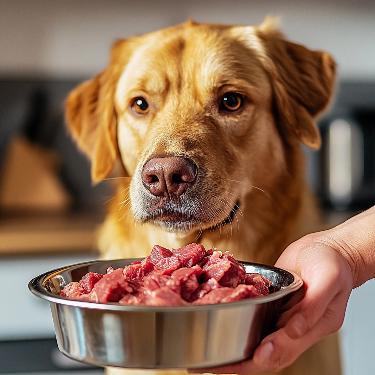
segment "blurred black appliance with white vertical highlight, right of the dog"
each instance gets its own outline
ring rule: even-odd
[[[326,208],[361,210],[375,204],[375,84],[342,83],[319,122],[317,190]]]

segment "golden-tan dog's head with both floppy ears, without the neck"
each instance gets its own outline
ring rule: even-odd
[[[283,189],[290,150],[320,147],[313,119],[334,75],[329,54],[268,21],[188,21],[116,42],[107,69],[69,95],[67,121],[94,181],[119,156],[136,220],[187,233],[231,220],[254,188]]]

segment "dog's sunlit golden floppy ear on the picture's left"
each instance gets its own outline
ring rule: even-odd
[[[110,174],[118,156],[114,95],[128,59],[124,43],[126,40],[118,40],[113,45],[108,67],[77,86],[66,99],[68,128],[78,147],[91,160],[94,182]]]

